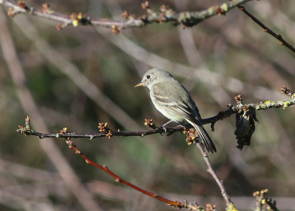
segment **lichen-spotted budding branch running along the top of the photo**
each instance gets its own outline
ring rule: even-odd
[[[124,11],[122,16],[127,20],[94,20],[89,16],[79,13],[71,17],[66,17],[65,15],[55,14],[50,10],[48,4],[43,4],[43,11],[37,10],[33,7],[25,5],[24,1],[19,1],[18,4],[14,4],[9,0],[0,0],[0,4],[9,7],[8,14],[14,16],[19,13],[27,13],[31,15],[36,15],[39,17],[47,18],[50,20],[55,20],[61,22],[62,24],[58,25],[58,29],[69,25],[92,25],[97,27],[107,27],[112,28],[114,33],[118,33],[120,30],[131,28],[131,27],[142,27],[148,23],[163,23],[163,22],[174,22],[174,24],[183,24],[185,26],[194,26],[197,25],[202,20],[212,17],[214,15],[224,15],[230,9],[236,7],[238,4],[245,3],[251,0],[232,0],[227,1],[222,5],[212,6],[208,9],[197,11],[197,12],[175,12],[168,7],[161,6],[161,12],[155,12],[150,9],[148,1],[142,3],[142,8],[146,10],[147,14],[142,15],[141,17],[135,17],[135,15],[129,15],[127,11]],[[45,8],[44,8],[45,7]]]

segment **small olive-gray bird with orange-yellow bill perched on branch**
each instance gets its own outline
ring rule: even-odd
[[[198,131],[208,152],[216,152],[216,147],[202,126],[199,110],[189,92],[167,71],[154,68],[146,72],[135,87],[146,86],[155,107],[170,121],[188,121]],[[165,125],[163,129],[165,130]]]

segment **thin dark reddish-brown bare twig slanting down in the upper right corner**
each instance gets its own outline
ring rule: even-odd
[[[244,12],[246,15],[250,17],[251,20],[253,20],[255,23],[257,23],[259,26],[261,26],[264,29],[264,32],[272,35],[277,40],[281,41],[281,45],[286,46],[291,51],[295,53],[295,48],[291,46],[286,40],[282,38],[282,35],[274,33],[270,28],[268,28],[266,25],[264,25],[260,20],[258,20],[254,15],[252,15],[250,12],[248,12],[244,6],[241,6],[240,4],[237,5],[237,7]]]

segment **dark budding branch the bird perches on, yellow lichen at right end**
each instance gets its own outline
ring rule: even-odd
[[[283,89],[284,88],[284,89]],[[271,108],[283,108],[286,109],[289,106],[292,106],[295,104],[295,97],[293,95],[293,92],[291,92],[290,90],[288,90],[286,87],[282,87],[281,88],[283,94],[286,94],[288,96],[290,96],[290,99],[288,100],[279,100],[279,101],[265,101],[265,102],[260,102],[260,103],[250,103],[250,104],[243,104],[242,103],[242,98],[241,95],[238,95],[237,97],[235,97],[235,99],[237,100],[237,105],[231,105],[231,104],[227,104],[227,106],[229,107],[229,109],[227,109],[226,111],[220,111],[216,116],[207,118],[207,119],[202,119],[202,124],[209,124],[211,123],[211,127],[212,130],[214,130],[214,124],[219,121],[222,120],[224,118],[227,118],[229,116],[231,116],[232,114],[237,114],[239,116],[245,116],[246,115],[254,115],[253,112],[248,112],[248,111],[258,111],[258,110],[266,110],[266,109],[271,109]],[[286,93],[288,92],[288,93]],[[248,114],[249,113],[249,114]],[[251,118],[253,118],[251,116]],[[256,117],[254,117],[255,119]],[[256,119],[255,119],[256,121]],[[90,139],[94,139],[94,138],[99,138],[99,137],[109,137],[111,138],[112,136],[140,136],[140,137],[144,137],[146,135],[152,135],[152,134],[157,134],[157,133],[165,133],[163,128],[157,127],[152,120],[146,120],[145,121],[145,125],[149,126],[150,128],[152,128],[151,130],[147,130],[147,131],[114,131],[111,130],[107,127],[107,124],[99,124],[99,128],[100,128],[100,133],[95,133],[95,134],[78,134],[75,132],[68,132],[66,128],[64,128],[63,130],[61,130],[61,133],[56,133],[56,134],[44,134],[44,133],[40,133],[40,132],[36,132],[34,131],[31,126],[30,126],[30,120],[27,118],[26,119],[26,124],[25,126],[19,126],[19,129],[17,129],[17,132],[20,132],[24,135],[35,135],[38,136],[40,139],[42,138],[90,138]],[[192,128],[192,126],[190,124],[187,125],[183,125],[186,129],[190,129]],[[171,127],[171,128],[166,128],[166,132],[167,135],[171,135],[175,132],[178,131],[183,131],[184,127],[183,126],[176,126],[176,127]]]

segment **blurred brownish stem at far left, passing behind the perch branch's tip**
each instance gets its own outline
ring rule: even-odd
[[[10,35],[4,14],[0,10],[0,46],[4,55],[4,59],[8,66],[8,70],[12,76],[12,81],[15,86],[16,95],[20,101],[20,104],[24,111],[28,115],[33,116],[35,121],[35,127],[37,129],[47,131],[47,127],[41,114],[38,111],[37,105],[33,99],[30,90],[25,85],[25,75],[17,57],[17,52],[15,51],[15,46]],[[29,122],[29,119],[28,121]],[[60,173],[60,176],[65,181],[68,189],[70,189],[73,195],[77,198],[77,201],[85,210],[100,211],[102,210],[98,203],[92,198],[91,194],[87,192],[84,186],[81,184],[79,178],[69,166],[68,162],[65,160],[64,156],[58,150],[52,139],[48,139],[46,142],[40,142],[44,152],[47,154],[50,161],[54,164],[55,168]],[[72,183],[75,184],[72,184]]]

